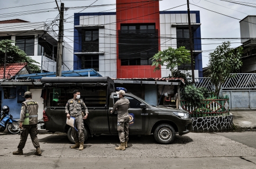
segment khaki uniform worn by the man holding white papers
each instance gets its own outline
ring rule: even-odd
[[[84,133],[83,133],[83,112],[82,108],[84,109],[85,113],[88,113],[87,107],[85,106],[82,99],[70,99],[67,101],[65,107],[65,113],[70,113],[71,117],[75,118],[75,123],[77,130],[72,127],[73,137],[75,142],[84,142]]]

